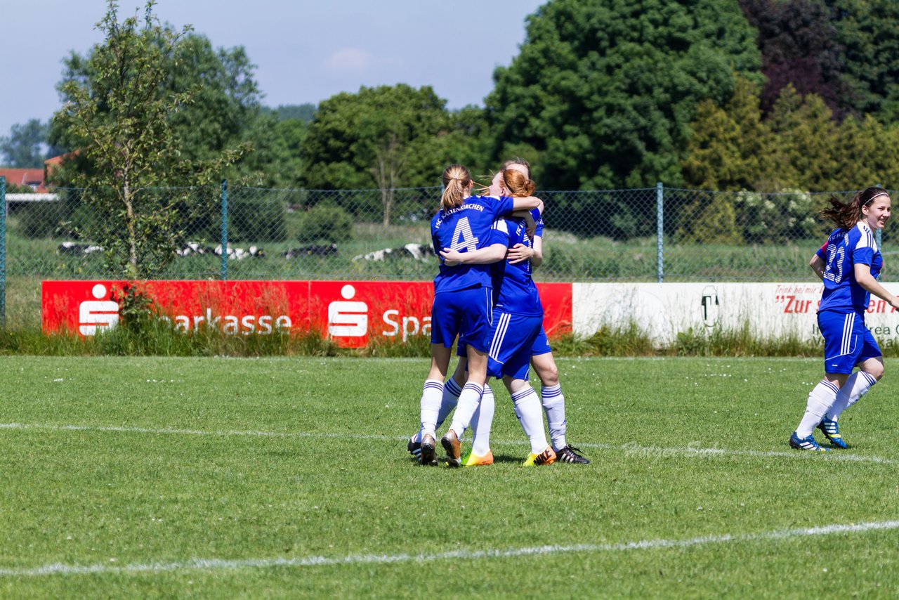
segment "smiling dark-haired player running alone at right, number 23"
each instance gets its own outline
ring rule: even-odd
[[[884,375],[884,357],[865,327],[870,295],[899,308],[899,297],[877,282],[884,259],[874,231],[890,218],[890,195],[880,187],[855,194],[848,204],[832,198],[821,216],[837,228],[812,256],[809,266],[824,283],[818,327],[824,337],[824,378],[808,394],[806,414],[789,445],[797,450],[825,452],[814,440],[817,427],[837,448],[848,448],[837,421]],[[852,372],[855,367],[859,371]]]

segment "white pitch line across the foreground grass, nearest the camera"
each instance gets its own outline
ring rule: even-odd
[[[125,573],[162,573],[182,570],[235,570],[235,569],[267,569],[271,567],[327,567],[331,565],[357,564],[391,564],[398,562],[430,562],[447,559],[503,559],[519,556],[545,556],[563,552],[619,552],[658,550],[665,548],[689,548],[706,544],[730,542],[779,541],[803,538],[814,535],[831,535],[834,533],[865,533],[870,531],[886,531],[899,528],[899,521],[881,521],[876,523],[831,524],[806,529],[786,529],[762,533],[725,533],[722,535],[705,535],[687,540],[640,540],[638,542],[620,542],[610,544],[575,544],[571,546],[531,546],[525,548],[507,548],[504,550],[457,550],[438,554],[349,554],[347,556],[309,556],[306,558],[275,557],[269,559],[190,559],[176,562],[132,563],[129,565],[67,565],[51,563],[33,569],[0,569],[0,578],[33,578],[47,575],[105,575]]]

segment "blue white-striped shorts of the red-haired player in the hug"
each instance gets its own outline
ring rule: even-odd
[[[543,331],[543,316],[515,315],[494,309],[493,340],[487,353],[487,374],[527,380],[534,342]]]

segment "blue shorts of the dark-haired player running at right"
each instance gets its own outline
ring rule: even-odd
[[[848,374],[855,365],[883,354],[865,327],[865,319],[857,312],[822,310],[818,313],[818,327],[824,337],[825,373]]]

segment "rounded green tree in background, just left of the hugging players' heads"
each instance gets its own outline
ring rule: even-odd
[[[327,190],[377,188],[390,223],[397,187],[434,185],[444,163],[441,136],[452,121],[430,86],[362,87],[318,106],[302,155],[302,182]]]

